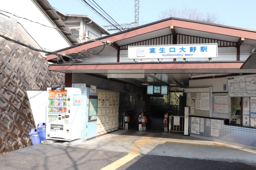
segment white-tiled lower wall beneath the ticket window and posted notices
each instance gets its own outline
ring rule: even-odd
[[[189,133],[191,133],[191,117],[189,117]],[[217,137],[211,136],[211,126],[206,125],[206,118],[204,118],[204,132],[199,132],[198,136],[256,146],[256,128],[224,125],[224,120],[221,120],[221,129],[219,129]]]

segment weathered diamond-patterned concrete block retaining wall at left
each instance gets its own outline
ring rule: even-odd
[[[0,153],[32,145],[29,130],[36,125],[26,90],[64,84],[64,74],[48,67],[41,53],[0,38]]]

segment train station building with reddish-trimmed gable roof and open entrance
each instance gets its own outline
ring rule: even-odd
[[[65,88],[84,92],[81,139],[132,120],[139,130],[151,96],[182,92],[179,113],[166,116],[168,132],[255,147],[255,49],[255,30],[172,17],[60,49],[47,61],[65,73]]]

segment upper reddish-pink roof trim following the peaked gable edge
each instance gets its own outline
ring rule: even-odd
[[[135,36],[138,36],[141,34],[146,34],[146,33],[152,32],[152,31],[157,31],[157,30],[160,30],[163,28],[168,28],[169,26],[175,26],[175,27],[180,27],[180,28],[187,28],[187,29],[192,29],[192,30],[228,35],[228,36],[233,36],[233,37],[243,37],[243,38],[256,40],[256,32],[239,30],[236,28],[225,28],[223,26],[214,26],[214,25],[208,25],[208,24],[204,24],[204,23],[195,23],[195,22],[189,22],[189,21],[184,21],[184,20],[175,20],[175,19],[166,20],[166,21],[163,21],[160,23],[155,23],[155,24],[145,26],[142,28],[138,28],[138,29],[134,29],[131,31],[125,31],[124,33],[116,34],[113,36],[110,35],[106,38],[103,37],[101,40],[104,40],[104,41],[108,40],[111,42],[116,42],[119,40],[124,40],[127,38],[135,37]],[[78,53],[85,49],[94,48],[94,47],[97,47],[100,45],[102,45],[102,42],[93,41],[93,42],[89,42],[86,44],[75,46],[73,48],[70,47],[69,49],[59,51],[59,53],[64,53],[64,54]],[[56,56],[52,55],[52,54],[47,56],[47,60],[51,60],[54,58],[56,58]]]

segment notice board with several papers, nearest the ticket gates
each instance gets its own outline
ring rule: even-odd
[[[186,105],[189,107],[189,115],[209,117],[211,111],[211,93],[187,93]]]

